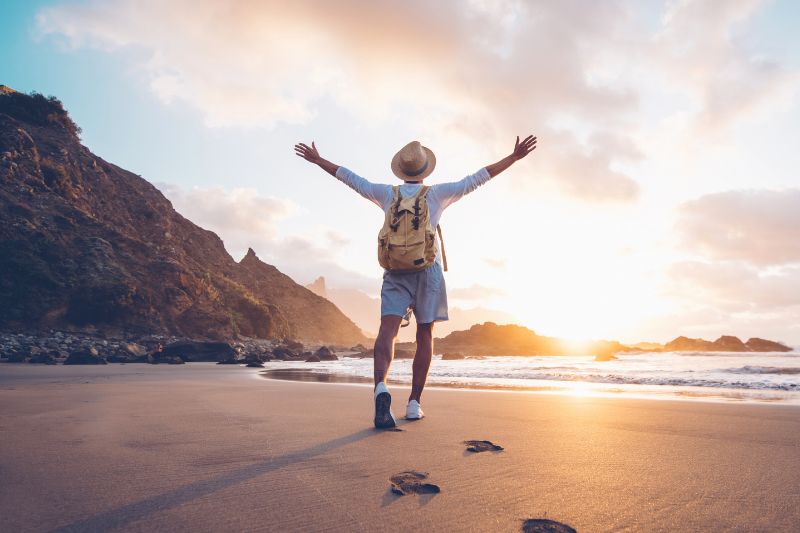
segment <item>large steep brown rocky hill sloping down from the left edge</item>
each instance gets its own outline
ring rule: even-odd
[[[365,342],[336,306],[92,154],[61,103],[0,86],[0,329]]]

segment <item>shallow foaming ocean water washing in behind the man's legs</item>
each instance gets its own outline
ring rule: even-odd
[[[266,363],[278,379],[369,383],[372,359]],[[390,383],[411,383],[411,361],[395,360]],[[482,357],[435,355],[428,386],[519,390],[580,396],[632,396],[800,405],[800,352],[661,352],[593,356]]]

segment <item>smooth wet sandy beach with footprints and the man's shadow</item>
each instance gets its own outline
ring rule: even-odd
[[[3,531],[790,531],[800,409],[369,386],[257,369],[0,367]],[[394,387],[395,412],[408,389]],[[489,439],[502,452],[474,454]],[[397,496],[428,472],[439,494]]]

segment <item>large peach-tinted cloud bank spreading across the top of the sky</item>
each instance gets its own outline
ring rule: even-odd
[[[630,154],[623,117],[638,95],[589,71],[623,49],[631,16],[620,2],[113,0],[44,8],[37,28],[72,47],[136,50],[150,90],[212,127],[304,124],[330,101],[482,145],[535,126],[560,137],[541,159],[567,193],[630,201],[638,186],[613,166]],[[560,116],[621,142],[579,143],[551,126]]]

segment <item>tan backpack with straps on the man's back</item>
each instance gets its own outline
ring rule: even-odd
[[[402,198],[400,186],[392,187],[392,205],[386,212],[378,234],[378,263],[390,272],[416,272],[431,266],[436,259],[436,233],[431,226],[426,195],[430,187],[423,186],[414,196]],[[437,226],[439,239],[442,228]],[[442,241],[442,259],[447,270]]]

